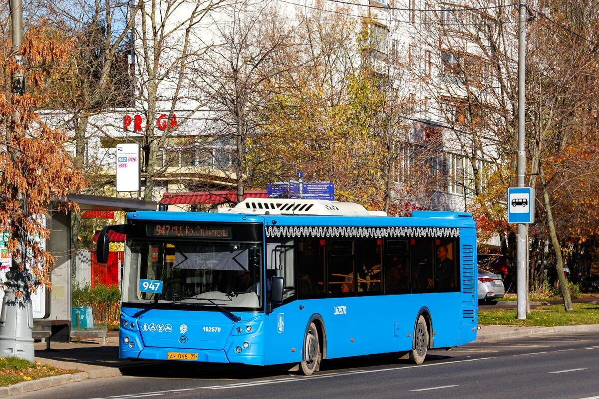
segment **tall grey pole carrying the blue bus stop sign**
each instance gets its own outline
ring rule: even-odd
[[[516,155],[516,183],[518,187],[526,187],[526,153],[524,151],[524,91],[526,84],[526,19],[528,6],[526,0],[518,5],[518,153]],[[531,201],[534,199],[531,198]],[[508,204],[509,206],[509,204]],[[525,224],[518,224],[516,242],[516,294],[518,295],[518,319],[526,318],[527,297],[527,252],[528,232]]]

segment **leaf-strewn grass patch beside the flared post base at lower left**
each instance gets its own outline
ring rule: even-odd
[[[0,358],[0,386],[73,373],[78,373],[78,371],[63,370],[62,368],[38,362],[31,363],[30,361],[16,357]]]

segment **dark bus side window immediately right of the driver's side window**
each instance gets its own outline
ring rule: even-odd
[[[298,298],[325,297],[325,239],[297,239]]]

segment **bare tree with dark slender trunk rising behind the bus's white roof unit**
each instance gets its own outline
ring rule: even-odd
[[[237,201],[250,178],[249,139],[263,123],[279,75],[296,67],[293,29],[269,1],[239,1],[223,10],[207,51],[194,63],[196,89],[215,122],[216,139],[231,151]]]

